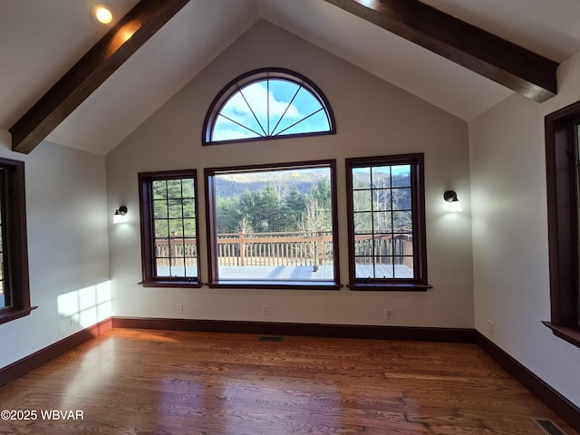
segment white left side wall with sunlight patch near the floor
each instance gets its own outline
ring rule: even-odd
[[[24,160],[31,303],[0,324],[0,368],[111,316],[104,158],[43,142]]]

